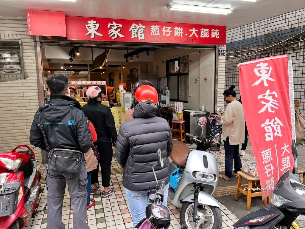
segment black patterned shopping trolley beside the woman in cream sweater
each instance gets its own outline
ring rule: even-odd
[[[219,151],[221,144],[222,125],[217,119],[217,115],[217,113],[211,113],[209,117],[210,124],[208,128],[207,139],[211,140],[212,142],[212,146],[210,148],[212,151]]]

